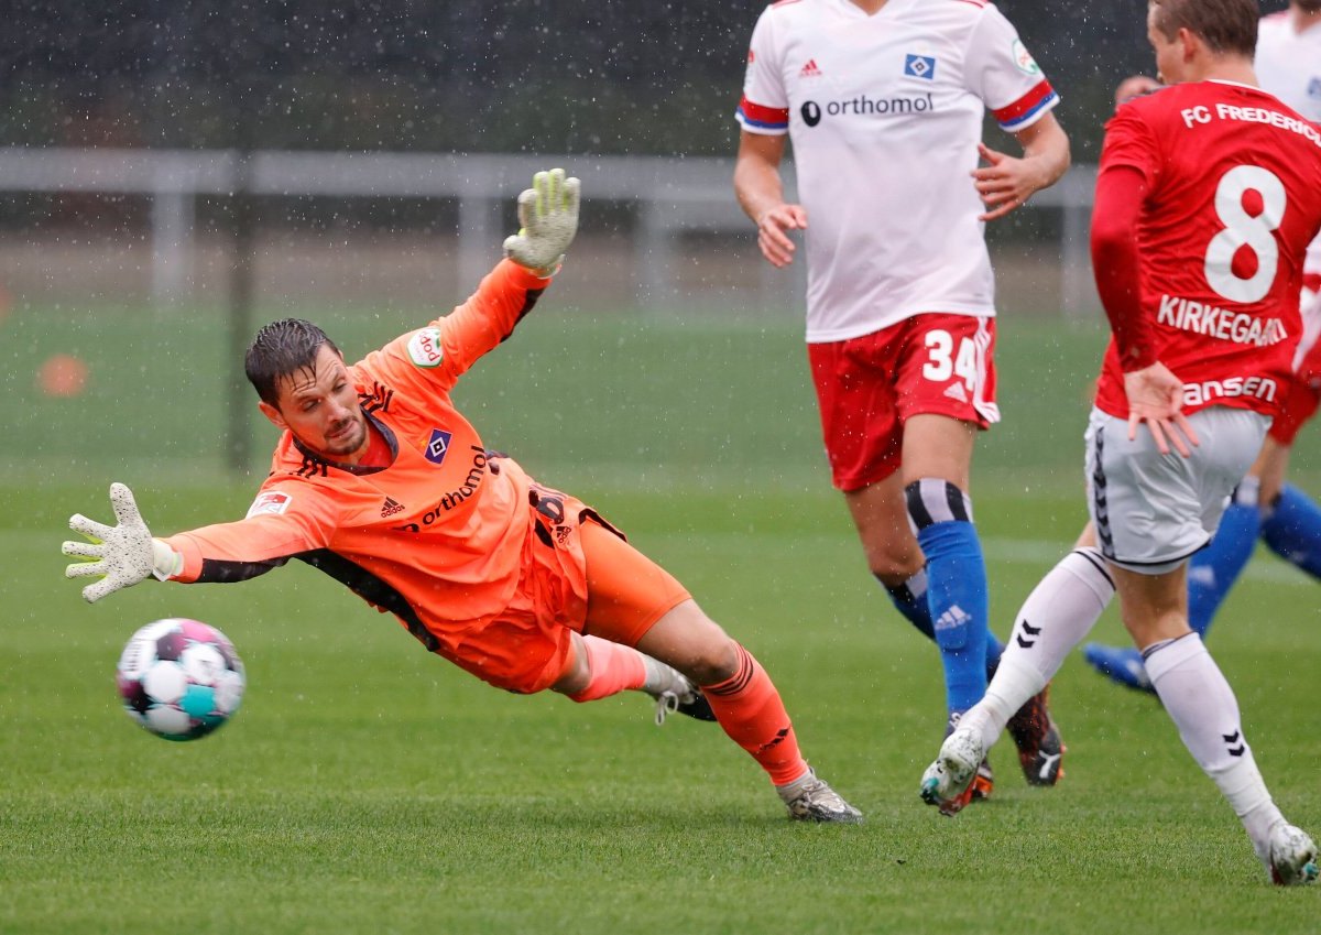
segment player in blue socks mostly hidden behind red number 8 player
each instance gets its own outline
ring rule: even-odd
[[[1321,123],[1321,0],[1292,0],[1287,11],[1262,18],[1255,70],[1262,87],[1313,123]],[[1152,78],[1125,79],[1116,106],[1161,87]],[[1321,403],[1321,238],[1308,247],[1303,268],[1303,339],[1293,359],[1293,380],[1262,453],[1234,491],[1213,543],[1189,568],[1189,623],[1206,635],[1215,613],[1247,565],[1258,539],[1287,561],[1321,577],[1321,508],[1285,482],[1299,429]],[[1141,656],[1132,647],[1089,643],[1087,662],[1112,680],[1152,692]]]

